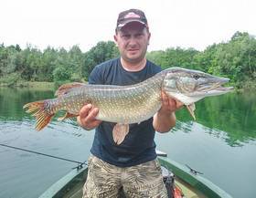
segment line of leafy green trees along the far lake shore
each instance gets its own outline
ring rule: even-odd
[[[99,42],[85,53],[79,46],[69,50],[47,47],[40,50],[18,45],[0,45],[0,84],[16,85],[24,81],[86,81],[91,70],[101,62],[118,57],[112,41]],[[228,77],[241,89],[255,89],[256,39],[249,33],[236,32],[228,42],[213,44],[204,51],[170,47],[151,51],[147,58],[162,68],[184,67]]]

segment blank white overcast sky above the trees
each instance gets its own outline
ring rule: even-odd
[[[149,51],[204,50],[237,31],[256,36],[255,0],[0,0],[0,44],[41,50],[78,45],[86,52],[113,41],[118,14],[130,8],[147,17]]]

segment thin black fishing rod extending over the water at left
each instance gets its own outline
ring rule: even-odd
[[[54,159],[58,159],[58,160],[66,161],[66,162],[78,163],[78,166],[72,168],[72,169],[77,169],[78,171],[82,168],[82,165],[83,165],[83,164],[87,164],[86,161],[85,161],[85,162],[73,161],[73,160],[69,160],[69,159],[67,159],[67,158],[61,158],[61,157],[58,157],[58,156],[49,155],[49,154],[42,153],[42,152],[37,152],[37,151],[31,151],[31,150],[27,150],[27,149],[22,149],[22,148],[19,148],[19,147],[10,146],[10,145],[6,145],[6,144],[3,144],[3,143],[0,143],[0,146],[2,146],[2,147],[7,147],[7,148],[10,148],[10,149],[14,149],[14,150],[19,150],[19,151],[27,151],[27,152],[35,153],[35,154],[37,154],[37,155],[43,155],[43,156],[47,156],[47,157],[50,157],[50,158],[54,158]]]

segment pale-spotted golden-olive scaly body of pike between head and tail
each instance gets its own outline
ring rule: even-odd
[[[147,120],[161,107],[161,82],[158,76],[136,86],[84,85],[55,100],[56,111],[66,109],[79,114],[87,103],[100,109],[97,119],[138,123]]]

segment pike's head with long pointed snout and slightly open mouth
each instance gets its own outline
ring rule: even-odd
[[[169,68],[165,70],[163,89],[169,96],[189,105],[208,96],[228,93],[233,88],[222,87],[227,82],[229,78],[216,77],[198,70]]]

